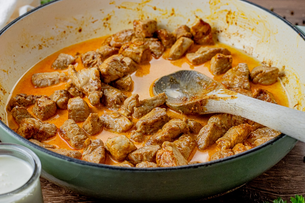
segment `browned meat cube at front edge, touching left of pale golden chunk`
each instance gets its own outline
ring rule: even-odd
[[[84,142],[83,160],[92,163],[105,163],[106,152],[103,141],[87,138]]]

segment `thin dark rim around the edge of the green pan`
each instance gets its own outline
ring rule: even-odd
[[[63,1],[63,0],[53,0],[52,2],[48,2],[48,3],[45,3],[43,5],[40,5],[32,10],[30,10],[29,12],[23,14],[22,16],[19,16],[18,18],[16,18],[15,20],[13,20],[12,22],[10,22],[8,25],[6,25],[2,30],[0,30],[0,36],[2,35],[2,33],[5,32],[5,30],[7,30],[10,26],[12,26],[14,23],[16,23],[17,21],[19,21],[20,19],[30,15],[32,12],[35,12],[36,10],[38,9],[41,9],[45,6],[48,6],[49,4],[53,4],[55,2],[58,2],[58,1]],[[303,40],[305,40],[305,35],[303,33],[300,32],[300,30],[298,30],[295,26],[293,26],[289,21],[287,21],[286,19],[282,18],[281,16],[279,16],[278,14],[270,11],[269,9],[266,9],[260,5],[257,5],[253,2],[249,2],[247,0],[239,0],[239,1],[243,1],[243,2],[247,2],[251,5],[254,5],[260,9],[263,9],[264,11],[276,16],[277,18],[281,19],[282,21],[284,21],[284,23],[286,23],[289,27],[291,27],[293,30],[296,31],[296,33],[298,33],[298,35],[300,37],[303,38]],[[207,166],[211,166],[211,165],[215,165],[215,164],[218,164],[218,163],[221,163],[221,162],[228,162],[230,161],[231,159],[235,159],[237,157],[241,157],[241,156],[244,156],[246,154],[249,154],[249,153],[252,153],[252,152],[255,152],[255,151],[258,151],[262,148],[264,148],[265,146],[267,145],[272,145],[274,142],[278,141],[279,139],[281,138],[284,138],[286,137],[287,135],[284,135],[284,134],[281,134],[281,135],[278,135],[277,137],[255,147],[255,148],[252,148],[252,149],[249,149],[245,152],[242,152],[242,153],[239,153],[239,154],[236,154],[236,155],[232,155],[232,156],[228,156],[228,157],[225,157],[225,158],[222,158],[222,159],[218,159],[218,160],[214,160],[214,161],[208,161],[208,162],[205,162],[205,163],[196,163],[196,164],[190,164],[190,165],[185,165],[185,166],[172,166],[172,167],[157,167],[157,168],[136,168],[136,167],[122,167],[122,166],[112,166],[112,165],[106,165],[106,164],[98,164],[98,163],[91,163],[91,162],[87,162],[87,161],[83,161],[83,160],[80,160],[80,159],[75,159],[75,158],[71,158],[69,156],[64,156],[64,155],[61,155],[61,154],[58,154],[58,153],[55,153],[55,152],[52,152],[48,149],[45,149],[43,147],[40,147],[30,141],[28,141],[26,138],[23,138],[22,136],[18,135],[15,131],[13,131],[12,129],[10,129],[7,125],[5,125],[2,121],[0,122],[0,126],[2,126],[2,128],[8,133],[8,134],[11,134],[13,135],[15,138],[17,138],[18,140],[20,140],[21,142],[27,144],[27,145],[30,145],[31,147],[39,150],[39,151],[42,151],[42,152],[45,152],[47,153],[48,155],[52,155],[52,156],[55,156],[56,158],[59,158],[59,159],[63,159],[63,160],[66,160],[66,161],[69,161],[69,162],[73,162],[73,163],[76,163],[76,164],[81,164],[81,165],[85,165],[85,166],[92,166],[92,167],[97,167],[97,168],[104,168],[104,169],[109,169],[109,170],[124,170],[124,171],[132,171],[132,172],[144,172],[144,171],[156,171],[156,172],[159,172],[159,171],[168,171],[168,170],[185,170],[185,168],[188,168],[188,169],[196,169],[196,168],[199,168],[199,167],[207,167]]]

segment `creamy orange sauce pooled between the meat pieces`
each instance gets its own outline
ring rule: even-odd
[[[32,68],[28,70],[27,73],[23,75],[23,77],[20,78],[20,80],[17,82],[15,88],[13,89],[12,96],[16,96],[16,94],[19,93],[26,93],[26,94],[33,94],[33,95],[47,95],[50,96],[55,90],[59,89],[65,89],[66,82],[59,83],[55,86],[49,86],[49,87],[43,87],[43,88],[37,88],[34,87],[31,82],[31,77],[34,73],[39,72],[66,72],[67,75],[67,69],[66,70],[54,70],[51,68],[52,63],[55,61],[57,56],[60,53],[70,54],[70,55],[80,55],[82,53],[85,53],[87,51],[96,50],[99,48],[100,44],[102,44],[105,37],[100,37],[88,41],[84,41],[79,44],[72,45],[70,47],[66,47],[60,51],[57,51],[56,53],[48,56],[47,58],[43,59],[42,61],[38,62],[36,65],[34,65]],[[192,50],[190,52],[195,52],[200,46],[195,45],[193,46]],[[231,51],[231,55],[233,58],[232,67],[235,67],[238,63],[247,63],[249,66],[250,71],[258,66],[261,65],[259,61],[254,59],[253,57],[245,54],[244,52],[235,49],[234,47],[227,46],[225,44],[217,43],[210,47],[224,47],[227,48],[229,51]],[[152,94],[152,84],[153,82],[160,78],[163,75],[170,74],[172,72],[178,71],[178,70],[196,70],[198,72],[201,72],[208,77],[215,79],[217,81],[220,81],[221,76],[223,75],[217,75],[214,76],[210,72],[210,61],[207,61],[206,63],[198,66],[194,66],[191,63],[189,63],[185,57],[182,57],[181,59],[178,59],[176,61],[170,61],[167,60],[169,50],[167,50],[162,57],[155,59],[152,57],[151,61],[149,63],[144,65],[139,65],[139,68],[136,72],[131,74],[132,80],[134,82],[134,88],[133,92],[125,92],[124,94],[127,96],[131,96],[131,94],[137,93],[139,95],[139,99],[143,100],[145,98],[154,96]],[[83,65],[81,62],[81,58],[77,57],[76,63],[74,64],[76,67],[76,70],[83,69]],[[70,81],[70,80],[69,80]],[[68,81],[68,82],[69,82]],[[267,89],[271,93],[274,94],[275,99],[279,105],[282,106],[289,106],[289,100],[285,93],[285,89],[283,88],[281,82],[278,80],[276,83],[269,85],[269,86],[262,86],[253,84],[251,82],[251,90],[254,92],[257,88],[263,88]],[[107,108],[105,108],[102,103],[97,106],[92,106],[90,102],[88,101],[88,98],[85,96],[83,98],[90,107],[91,113],[97,113],[99,116],[101,116],[104,112],[110,112]],[[34,106],[34,105],[33,105]],[[28,111],[32,113],[33,106],[28,108]],[[203,126],[207,124],[208,119],[212,114],[206,114],[206,115],[181,115],[180,113],[171,110],[170,108],[166,107],[165,105],[162,105],[161,107],[167,108],[167,114],[171,118],[180,118],[186,117],[188,119],[193,119],[197,122],[200,122]],[[67,110],[57,110],[57,114],[50,119],[46,120],[45,122],[53,123],[59,128],[64,121],[68,119],[68,112]],[[133,123],[135,124],[138,121],[138,119],[133,119]],[[77,124],[81,127],[83,122],[77,122]],[[18,128],[18,124],[14,120],[14,118],[11,115],[11,112],[7,112],[7,125],[13,129],[16,130]],[[132,130],[134,130],[135,127],[131,128],[131,130],[125,132],[125,133],[117,133],[111,130],[103,129],[103,131],[99,134],[90,136],[91,139],[101,139],[104,143],[108,138],[113,138],[118,135],[126,135],[128,138],[130,138],[130,133]],[[59,148],[64,149],[73,149],[68,142],[66,142],[59,133],[56,134],[55,137],[45,141],[45,143],[56,145]],[[145,143],[145,141],[143,142]],[[143,143],[135,143],[135,145],[139,148],[143,146]],[[76,149],[74,149],[76,150]],[[205,150],[199,150],[198,147],[193,150],[192,155],[189,157],[188,161],[200,161],[200,162],[207,162],[210,159],[210,156],[217,151],[217,145],[213,144],[208,149]],[[82,150],[79,150],[82,152]],[[106,153],[107,154],[107,153]],[[108,154],[106,156],[106,164],[115,164],[117,163],[115,160],[113,160]]]

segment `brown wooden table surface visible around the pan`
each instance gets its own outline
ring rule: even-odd
[[[305,0],[252,0],[251,2],[273,10],[294,25],[305,25]],[[305,133],[305,132],[304,132]],[[305,143],[296,146],[278,164],[239,189],[203,202],[272,202],[282,197],[290,202],[295,194],[305,195]],[[41,178],[45,203],[100,202],[68,191]]]

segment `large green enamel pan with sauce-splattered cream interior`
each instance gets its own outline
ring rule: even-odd
[[[6,126],[5,105],[16,81],[36,62],[72,44],[131,28],[134,19],[157,19],[173,31],[195,22],[259,61],[282,68],[290,107],[304,110],[305,37],[267,9],[237,0],[57,0],[38,7],[0,31],[0,140],[24,145],[40,158],[45,179],[92,197],[156,201],[207,198],[259,176],[281,160],[296,140],[279,135],[245,153],[208,163],[170,168],[122,168],[88,163],[43,149]]]

